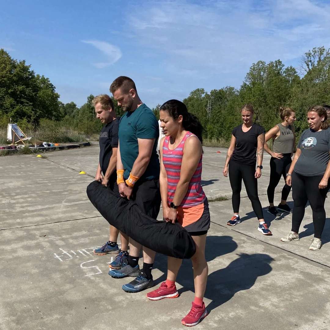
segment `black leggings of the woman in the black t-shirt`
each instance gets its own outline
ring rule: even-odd
[[[243,165],[234,161],[229,162],[229,181],[233,195],[231,198],[234,213],[238,213],[241,202],[242,179],[248,198],[251,201],[252,209],[258,220],[263,219],[261,203],[258,197],[258,182],[254,177],[255,165]]]

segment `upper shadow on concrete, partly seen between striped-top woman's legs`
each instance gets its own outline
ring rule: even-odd
[[[231,236],[207,236],[205,246],[206,261],[212,261],[216,257],[231,253],[236,249],[237,243],[233,241]],[[155,285],[166,281],[167,257],[157,254],[153,268],[158,268],[164,273],[160,278],[154,279]],[[183,286],[183,288],[178,290],[180,294],[189,290],[194,291],[193,269],[190,259],[184,259],[182,261],[176,282]]]

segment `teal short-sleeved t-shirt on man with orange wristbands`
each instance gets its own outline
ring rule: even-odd
[[[144,103],[133,112],[126,112],[119,119],[120,158],[124,166],[124,178],[129,177],[133,164],[139,155],[138,139],[155,139],[149,165],[143,174],[144,179],[159,177],[160,165],[157,154],[159,127],[156,116]]]

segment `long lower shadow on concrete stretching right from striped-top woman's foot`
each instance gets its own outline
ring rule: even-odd
[[[235,293],[250,289],[259,276],[272,271],[270,263],[274,260],[268,254],[238,254],[226,268],[219,269],[208,276],[205,298],[212,302],[207,306],[210,313],[230,300]]]

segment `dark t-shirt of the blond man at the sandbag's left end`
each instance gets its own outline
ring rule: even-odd
[[[114,119],[112,122],[103,126],[100,132],[99,145],[100,145],[100,166],[103,175],[105,175],[109,166],[110,157],[112,156],[112,148],[118,148],[118,127],[119,120]],[[117,173],[114,171],[109,182],[117,180]]]

